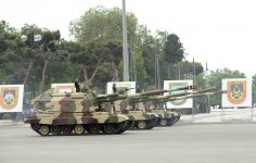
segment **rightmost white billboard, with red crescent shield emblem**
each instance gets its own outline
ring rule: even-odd
[[[222,79],[222,106],[252,106],[252,79],[227,78]]]

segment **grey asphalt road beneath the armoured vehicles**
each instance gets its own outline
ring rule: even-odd
[[[256,124],[177,124],[121,135],[41,137],[0,126],[1,163],[255,163]]]

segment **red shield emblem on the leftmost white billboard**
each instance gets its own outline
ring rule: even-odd
[[[18,87],[2,87],[0,104],[4,110],[12,110],[18,102]]]

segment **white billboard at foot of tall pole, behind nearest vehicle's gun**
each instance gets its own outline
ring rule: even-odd
[[[136,93],[136,82],[110,82],[106,85],[106,93],[113,93],[113,85],[116,84],[116,88],[131,88],[127,91],[128,95]]]

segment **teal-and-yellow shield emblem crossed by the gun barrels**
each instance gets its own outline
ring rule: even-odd
[[[188,86],[188,83],[169,83],[169,89],[176,89],[176,88],[185,87],[185,86]],[[187,92],[187,90],[172,91],[172,92],[169,92],[169,95],[176,95],[176,93],[182,93],[182,92]],[[170,103],[174,105],[182,105],[185,102],[187,102],[187,99],[170,101]]]

